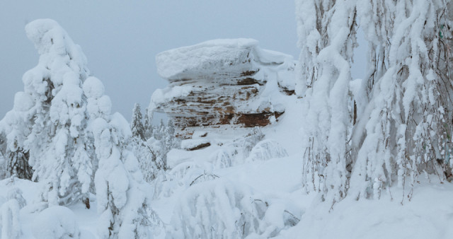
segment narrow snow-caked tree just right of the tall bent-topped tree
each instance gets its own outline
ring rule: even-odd
[[[96,197],[101,238],[151,238],[149,188],[143,180],[132,146],[130,126],[119,113],[110,114],[111,102],[98,78],[84,82],[88,98],[88,129],[93,132],[96,156]]]

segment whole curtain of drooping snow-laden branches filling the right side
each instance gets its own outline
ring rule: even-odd
[[[423,172],[449,180],[451,4],[296,3],[297,93],[308,110],[304,186],[336,202],[346,193],[379,198],[394,182],[413,185]],[[369,44],[365,81],[350,81],[356,21]]]

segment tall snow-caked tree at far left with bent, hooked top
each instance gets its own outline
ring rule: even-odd
[[[23,75],[24,92],[2,120],[8,156],[33,166],[33,180],[44,182],[42,199],[50,204],[76,202],[92,189],[93,163],[86,128],[86,57],[50,19],[25,26],[35,44],[38,66]],[[5,126],[6,125],[6,126]],[[19,157],[20,156],[20,157]]]

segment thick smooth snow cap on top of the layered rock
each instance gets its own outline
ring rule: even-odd
[[[253,69],[256,62],[282,64],[292,57],[263,50],[250,38],[218,39],[161,52],[156,56],[157,72],[168,81],[210,74],[227,74]]]

